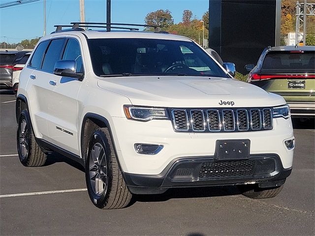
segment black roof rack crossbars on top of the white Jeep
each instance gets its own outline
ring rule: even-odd
[[[140,24],[123,24],[123,23],[103,23],[103,22],[71,22],[72,25],[55,25],[56,30],[52,33],[59,32],[59,31],[83,31],[85,29],[82,28],[106,28],[106,29],[128,29],[128,30],[139,30],[138,28],[134,27],[124,27],[124,26],[140,26],[140,27],[153,27],[155,32],[163,32],[159,26],[155,25],[140,25]],[[63,29],[63,27],[71,27],[71,29]],[[82,28],[80,28],[82,27]],[[110,31],[110,30],[107,30]]]

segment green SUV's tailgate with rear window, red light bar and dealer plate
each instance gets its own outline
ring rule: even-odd
[[[315,52],[269,52],[260,71],[261,87],[286,101],[315,101]]]

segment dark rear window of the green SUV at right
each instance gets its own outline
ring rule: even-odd
[[[314,69],[315,52],[270,52],[262,69]]]

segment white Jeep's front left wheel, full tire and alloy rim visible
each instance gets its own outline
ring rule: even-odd
[[[90,138],[85,177],[90,199],[96,207],[118,209],[130,203],[132,195],[119,169],[107,128],[95,130]]]

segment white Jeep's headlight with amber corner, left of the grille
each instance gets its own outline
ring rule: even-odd
[[[151,119],[169,119],[165,108],[148,108],[136,106],[124,106],[126,118],[148,121]]]

